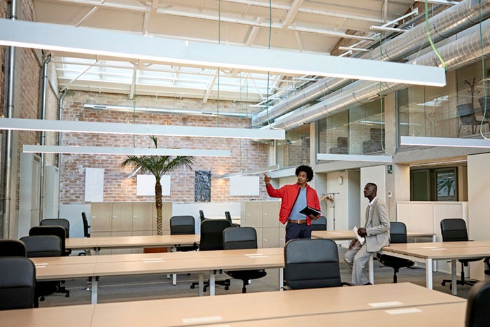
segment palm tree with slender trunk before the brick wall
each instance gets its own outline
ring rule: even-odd
[[[155,136],[150,137],[158,148]],[[127,155],[121,163],[122,167],[140,168],[142,173],[151,173],[155,176],[155,207],[157,208],[157,235],[162,235],[162,184],[161,176],[172,172],[178,167],[192,168],[194,158],[188,155],[171,157],[169,155]]]

